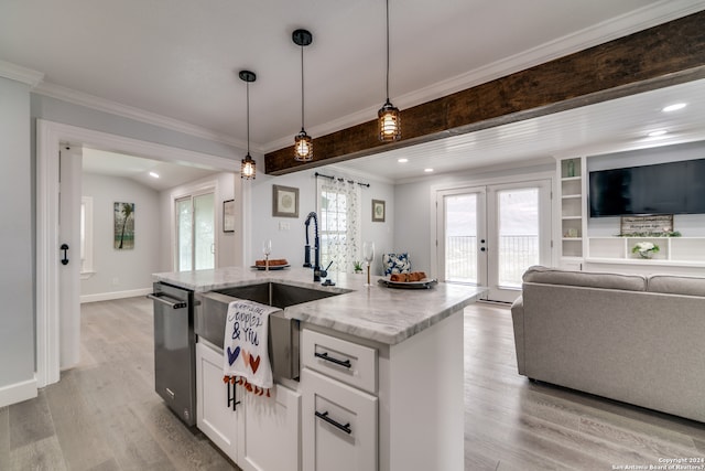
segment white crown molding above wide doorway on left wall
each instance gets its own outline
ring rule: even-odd
[[[51,98],[59,99],[62,101],[67,101],[86,108],[96,109],[98,111],[108,113],[110,115],[121,116],[123,118],[133,119],[135,121],[144,122],[148,125],[159,126],[160,128],[170,129],[172,131],[182,132],[215,142],[226,143],[238,149],[247,149],[246,141],[236,139],[229,135],[215,132],[200,126],[195,126],[189,122],[181,121],[178,119],[169,118],[155,113],[145,111],[133,106],[122,105],[117,101],[63,87],[50,82],[40,84],[33,92]],[[254,146],[252,142],[250,142],[250,148],[261,152],[260,147]]]

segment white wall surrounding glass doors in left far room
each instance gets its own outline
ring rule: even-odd
[[[242,250],[239,249],[242,246],[243,239],[242,199],[239,196],[238,189],[240,184],[239,175],[223,172],[214,176],[207,176],[162,191],[159,194],[160,215],[155,221],[160,221],[160,237],[162,243],[158,250],[159,269],[154,272],[175,270],[172,253],[176,227],[174,220],[174,200],[207,188],[215,188],[216,268],[240,266],[242,264],[240,257]],[[236,203],[236,227],[234,233],[223,232],[223,202],[227,200],[235,200]]]

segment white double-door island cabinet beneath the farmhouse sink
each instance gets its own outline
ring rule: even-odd
[[[243,471],[300,471],[301,395],[274,385],[271,397],[237,386],[236,404],[223,382],[223,353],[196,344],[197,427]]]

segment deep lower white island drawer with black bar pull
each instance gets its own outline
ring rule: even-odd
[[[376,471],[377,397],[304,368],[302,459],[306,471]]]

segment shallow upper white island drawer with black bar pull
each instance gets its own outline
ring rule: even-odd
[[[301,363],[343,383],[377,394],[377,350],[304,329]]]

